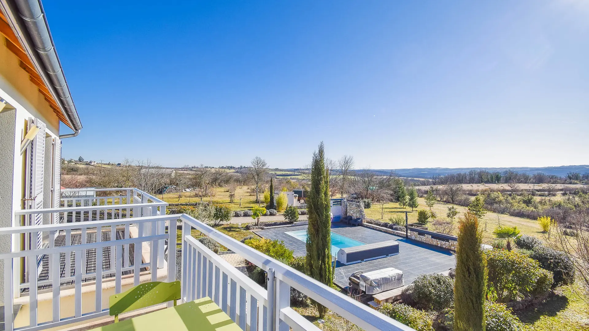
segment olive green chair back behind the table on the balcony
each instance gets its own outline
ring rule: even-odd
[[[131,310],[141,309],[154,304],[180,300],[180,280],[172,283],[150,282],[131,287],[127,291],[110,296],[108,306],[110,316],[114,315],[114,322],[118,322],[118,315]]]

